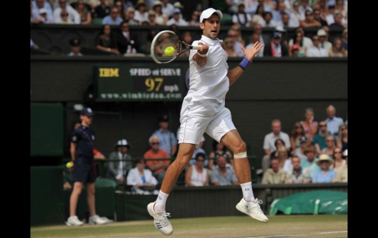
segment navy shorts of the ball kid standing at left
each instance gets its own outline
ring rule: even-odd
[[[73,182],[94,183],[96,181],[93,160],[78,157],[74,161]]]

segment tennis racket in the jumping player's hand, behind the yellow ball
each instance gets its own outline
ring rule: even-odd
[[[165,54],[164,51],[167,47],[173,47],[173,54]],[[172,62],[180,54],[193,50],[199,50],[202,46],[200,45],[189,45],[184,41],[180,40],[175,32],[171,30],[163,30],[159,32],[151,43],[151,57],[158,64],[166,64]]]

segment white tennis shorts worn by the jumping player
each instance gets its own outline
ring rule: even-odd
[[[216,111],[212,108],[202,102],[192,102],[190,98],[184,99],[180,114],[179,143],[198,145],[204,132],[220,142],[223,135],[236,129],[228,108],[223,106]]]

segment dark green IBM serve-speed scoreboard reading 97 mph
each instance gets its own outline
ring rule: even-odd
[[[94,66],[96,101],[182,101],[189,64],[133,63]]]

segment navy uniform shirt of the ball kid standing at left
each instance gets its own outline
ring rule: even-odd
[[[94,132],[91,128],[80,126],[71,134],[71,142],[76,144],[75,158],[87,157],[93,159]]]

